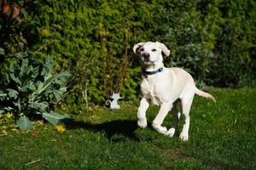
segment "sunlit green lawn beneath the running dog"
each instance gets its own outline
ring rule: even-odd
[[[256,89],[212,88],[211,94],[216,104],[195,97],[189,142],[178,139],[183,120],[169,138],[137,128],[137,105],[97,108],[61,134],[48,124],[9,131],[0,137],[0,169],[256,169]],[[148,122],[157,111],[150,107]],[[164,124],[171,122],[167,116]]]

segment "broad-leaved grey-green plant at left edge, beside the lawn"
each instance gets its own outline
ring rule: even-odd
[[[6,82],[0,89],[0,114],[8,111],[19,117],[20,129],[32,127],[28,117],[42,116],[51,124],[68,118],[54,111],[54,106],[61,101],[70,73],[62,71],[52,73],[53,59],[47,57],[44,63],[27,54],[21,55],[17,63],[10,63]]]

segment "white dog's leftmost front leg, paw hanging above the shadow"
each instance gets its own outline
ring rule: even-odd
[[[139,127],[147,127],[146,111],[148,110],[148,100],[143,98],[137,111],[137,125]]]

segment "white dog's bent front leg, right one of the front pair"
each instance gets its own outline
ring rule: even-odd
[[[160,111],[158,112],[157,116],[154,118],[154,121],[152,123],[152,126],[158,133],[167,133],[167,128],[162,127],[161,124],[164,122],[166,115],[169,111],[172,109],[172,104],[162,104],[160,105]]]

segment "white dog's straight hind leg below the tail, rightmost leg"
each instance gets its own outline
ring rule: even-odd
[[[190,98],[184,98],[182,99],[182,108],[183,108],[183,115],[184,115],[184,124],[183,124],[183,130],[180,133],[179,138],[183,141],[189,140],[189,123],[190,123],[190,117],[189,117],[189,111],[192,105],[193,97]]]

